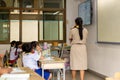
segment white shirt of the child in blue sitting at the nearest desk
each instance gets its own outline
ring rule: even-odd
[[[35,51],[35,53],[28,53],[23,55],[23,66],[29,67],[30,69],[39,69],[37,61],[40,59],[40,55]]]

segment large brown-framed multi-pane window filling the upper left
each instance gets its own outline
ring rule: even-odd
[[[0,43],[9,43],[12,40],[65,42],[65,2],[1,0]]]

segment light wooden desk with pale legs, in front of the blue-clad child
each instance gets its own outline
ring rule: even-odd
[[[65,80],[65,61],[61,58],[52,57],[53,60],[41,60],[42,77],[45,69],[63,69],[63,80]]]

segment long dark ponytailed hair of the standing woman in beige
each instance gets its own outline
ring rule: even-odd
[[[82,21],[82,18],[81,18],[81,17],[77,17],[77,18],[75,19],[75,23],[76,23],[76,25],[79,26],[79,27],[78,27],[79,36],[80,36],[80,39],[82,40],[82,39],[83,39],[83,33],[82,33],[82,31],[83,31],[83,27],[82,27],[83,21]]]

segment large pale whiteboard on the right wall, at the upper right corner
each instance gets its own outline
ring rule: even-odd
[[[97,41],[120,43],[120,0],[97,0]]]

